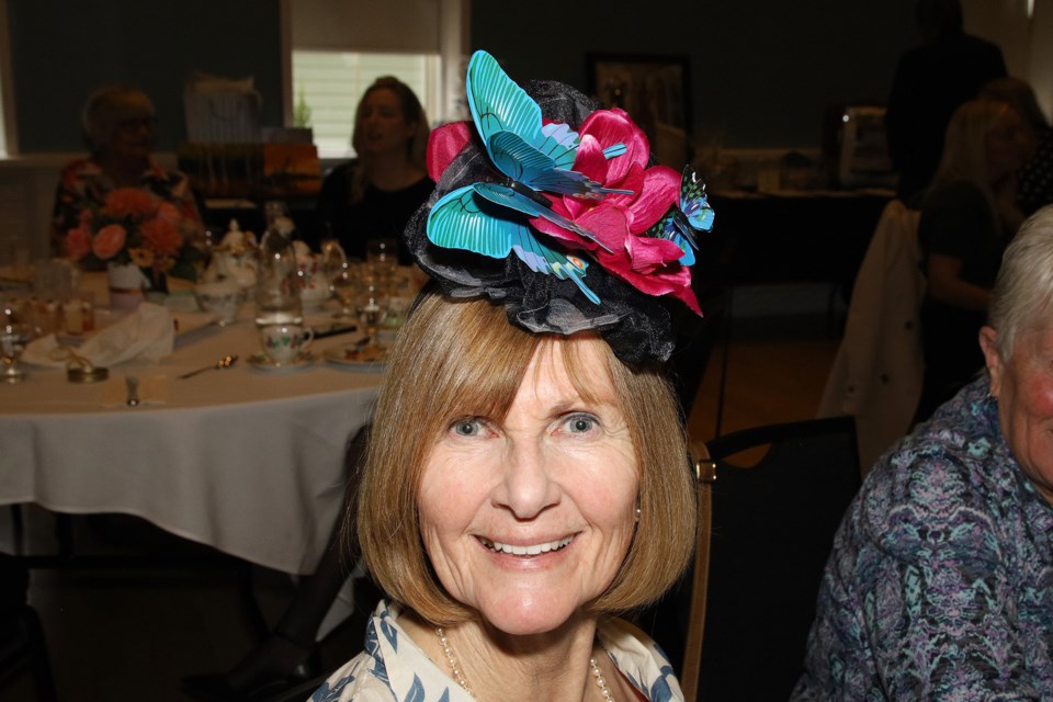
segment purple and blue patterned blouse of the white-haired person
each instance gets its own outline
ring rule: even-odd
[[[965,386],[867,477],[793,700],[1053,699],[1053,507],[987,389]]]

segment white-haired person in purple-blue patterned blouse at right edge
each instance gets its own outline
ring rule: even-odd
[[[1053,207],[1006,250],[987,373],[867,477],[794,700],[1053,699]]]

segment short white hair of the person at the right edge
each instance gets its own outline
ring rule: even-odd
[[[1053,205],[1031,215],[1001,258],[992,291],[988,324],[998,332],[998,354],[1012,358],[1026,331],[1053,322]]]

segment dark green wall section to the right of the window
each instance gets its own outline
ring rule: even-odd
[[[827,105],[884,100],[914,0],[472,3],[472,48],[586,90],[587,53],[687,55],[695,125],[726,146],[818,146]]]

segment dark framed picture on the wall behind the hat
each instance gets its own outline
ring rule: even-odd
[[[688,57],[586,54],[586,64],[589,94],[627,112],[660,162],[682,167],[691,132]]]

